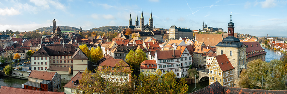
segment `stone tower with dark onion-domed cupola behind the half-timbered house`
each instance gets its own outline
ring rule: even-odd
[[[240,42],[238,38],[234,36],[234,23],[228,23],[228,36],[216,45],[216,55],[226,54],[230,63],[234,67],[234,87],[239,81],[239,75],[242,69],[246,69],[246,45]]]

